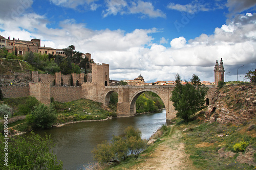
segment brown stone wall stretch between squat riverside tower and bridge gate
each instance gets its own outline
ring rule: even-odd
[[[56,102],[70,102],[82,98],[81,86],[51,86],[51,97]]]

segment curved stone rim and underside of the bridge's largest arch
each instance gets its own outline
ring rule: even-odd
[[[138,99],[140,94],[142,94],[143,92],[146,92],[146,91],[151,91],[151,92],[156,93],[160,97],[160,99],[163,101],[164,106],[165,107],[167,106],[167,104],[164,101],[163,97],[157,91],[152,90],[152,89],[141,89],[141,90],[138,90],[137,92],[135,92],[134,95],[131,98],[131,101],[130,101],[130,111],[129,111],[131,116],[133,116],[136,113],[136,100]]]

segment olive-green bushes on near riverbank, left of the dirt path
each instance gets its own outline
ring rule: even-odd
[[[113,135],[111,143],[104,141],[98,144],[92,151],[94,159],[100,164],[119,163],[127,158],[129,151],[132,154],[131,157],[138,158],[141,151],[146,148],[146,140],[141,139],[141,132],[134,127],[127,127],[124,132],[125,138]]]

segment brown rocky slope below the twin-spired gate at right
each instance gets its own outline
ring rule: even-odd
[[[240,125],[255,116],[256,87],[253,84],[225,86],[215,92],[205,112],[206,122]]]

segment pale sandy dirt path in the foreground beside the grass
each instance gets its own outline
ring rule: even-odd
[[[131,169],[195,169],[185,153],[185,143],[180,142],[181,132],[174,130],[172,136],[163,138],[155,151],[151,153],[145,162],[135,165]]]

